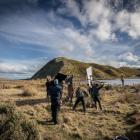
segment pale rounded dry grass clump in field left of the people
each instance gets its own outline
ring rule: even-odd
[[[29,87],[26,86],[26,87],[23,88],[22,95],[23,96],[36,96],[36,95],[38,95],[38,91],[33,86],[29,86]]]

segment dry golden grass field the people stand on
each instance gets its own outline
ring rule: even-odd
[[[117,135],[127,135],[132,140],[139,140],[140,85],[103,88],[101,90],[102,111],[89,107],[89,97],[86,98],[87,112],[85,115],[81,105],[74,112],[72,106],[63,104],[59,113],[60,124],[52,125],[47,122],[51,119],[51,115],[50,103],[46,101],[44,84],[45,80],[0,81],[1,104],[14,106],[14,112],[20,112],[26,120],[33,121],[35,124],[33,127],[36,127],[37,130],[30,131],[32,127],[27,130],[38,131],[39,137],[36,133],[34,135],[36,139],[110,140]],[[77,84],[74,85],[76,88]],[[81,86],[86,88],[85,85]],[[67,94],[66,89],[67,87],[64,88],[63,98]],[[1,104],[0,122],[3,122]],[[18,119],[16,121],[18,124]],[[4,133],[7,135],[6,132]],[[33,139],[33,137],[29,139]]]

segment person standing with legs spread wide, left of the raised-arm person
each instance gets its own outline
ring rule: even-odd
[[[83,106],[83,112],[85,114],[86,112],[86,106],[85,106],[85,100],[84,100],[84,96],[85,94],[87,94],[85,91],[83,91],[80,87],[77,88],[76,90],[76,102],[73,106],[73,110],[75,111],[76,109],[76,106],[78,105],[79,102],[82,103],[82,106]],[[88,95],[88,94],[87,94]]]

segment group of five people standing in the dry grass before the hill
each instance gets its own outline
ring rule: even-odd
[[[68,89],[68,96],[66,97],[66,101],[73,102],[74,96],[74,88],[73,88],[73,75],[69,77],[67,81],[67,89]],[[86,104],[85,104],[85,97],[91,96],[92,104],[94,104],[95,108],[97,109],[97,103],[99,105],[100,110],[102,110],[101,100],[99,90],[104,86],[103,83],[95,83],[92,82],[91,86],[89,86],[88,92],[83,90],[80,86],[77,87],[75,95],[76,101],[73,105],[73,111],[76,110],[77,105],[81,102],[83,106],[83,112],[86,112]],[[58,79],[51,79],[47,78],[46,81],[46,91],[47,91],[47,101],[51,102],[51,112],[52,112],[52,122],[54,124],[58,123],[58,112],[60,110],[60,106],[62,104],[62,92],[63,92],[63,82],[59,82]]]

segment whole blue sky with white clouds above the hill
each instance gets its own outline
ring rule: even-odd
[[[139,0],[0,0],[0,77],[68,57],[140,68]]]

